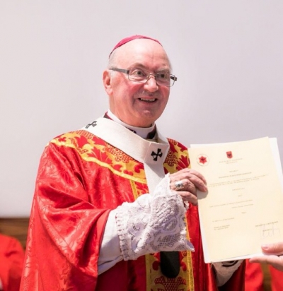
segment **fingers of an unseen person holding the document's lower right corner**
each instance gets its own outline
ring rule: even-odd
[[[268,263],[279,271],[283,271],[283,242],[262,245],[265,256],[255,256],[250,263]]]

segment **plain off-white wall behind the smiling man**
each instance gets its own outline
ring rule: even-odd
[[[282,0],[0,0],[0,216],[28,216],[45,144],[108,109],[108,54],[135,34],[178,76],[166,136],[277,137],[283,157]]]

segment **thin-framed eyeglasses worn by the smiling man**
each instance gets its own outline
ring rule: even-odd
[[[157,85],[171,87],[174,85],[175,81],[177,81],[177,77],[175,75],[171,75],[170,73],[146,73],[141,69],[117,69],[111,68],[112,71],[117,71],[121,73],[127,73],[129,81],[138,82],[138,83],[146,83],[149,81],[149,78],[153,76],[156,80]]]

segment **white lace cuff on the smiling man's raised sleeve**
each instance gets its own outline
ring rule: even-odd
[[[154,194],[117,208],[117,232],[125,261],[158,251],[195,251],[187,239],[183,200],[169,183],[167,174]]]

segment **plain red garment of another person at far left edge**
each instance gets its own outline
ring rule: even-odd
[[[24,251],[14,237],[0,234],[0,279],[4,291],[18,291],[23,271]]]

